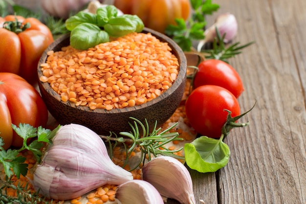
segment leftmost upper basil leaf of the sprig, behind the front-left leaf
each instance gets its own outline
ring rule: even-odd
[[[65,22],[66,28],[69,31],[72,31],[76,26],[81,23],[92,23],[97,24],[97,16],[95,14],[80,11],[74,16],[68,18]]]

